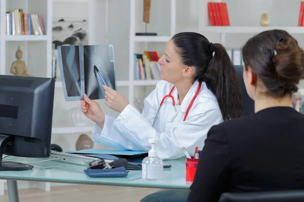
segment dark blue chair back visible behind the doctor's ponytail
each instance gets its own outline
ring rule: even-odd
[[[242,106],[243,112],[242,117],[254,114],[254,100],[251,99],[246,91],[244,79],[243,79],[243,66],[242,65],[235,65],[235,68],[238,73],[238,77],[240,79],[240,87],[242,93]]]

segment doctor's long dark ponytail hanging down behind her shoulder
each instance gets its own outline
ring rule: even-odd
[[[242,114],[242,102],[236,69],[221,44],[210,43],[210,46],[210,53],[213,47],[214,55],[208,63],[206,72],[198,75],[198,79],[204,81],[216,95],[224,121],[239,118]]]

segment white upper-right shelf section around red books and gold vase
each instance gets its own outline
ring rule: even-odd
[[[208,2],[223,2],[227,5],[230,26],[210,26]],[[271,29],[283,29],[290,34],[303,34],[304,27],[297,26],[301,0],[202,0],[199,1],[199,32],[219,34],[221,44],[226,44],[227,34],[257,34]],[[276,8],[276,9],[274,9]],[[280,10],[284,9],[284,13]],[[253,12],[254,11],[254,12]],[[260,16],[267,13],[270,26],[259,25]],[[288,17],[286,17],[288,13]],[[246,16],[246,17],[244,17]],[[238,35],[239,36],[239,35]]]

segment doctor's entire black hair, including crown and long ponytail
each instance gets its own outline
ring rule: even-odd
[[[172,40],[182,63],[194,66],[196,80],[204,81],[215,94],[223,120],[241,117],[240,81],[226,49],[195,32],[175,34]]]

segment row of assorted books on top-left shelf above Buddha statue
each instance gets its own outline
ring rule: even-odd
[[[43,35],[45,29],[40,15],[23,13],[22,9],[6,12],[7,35]]]

